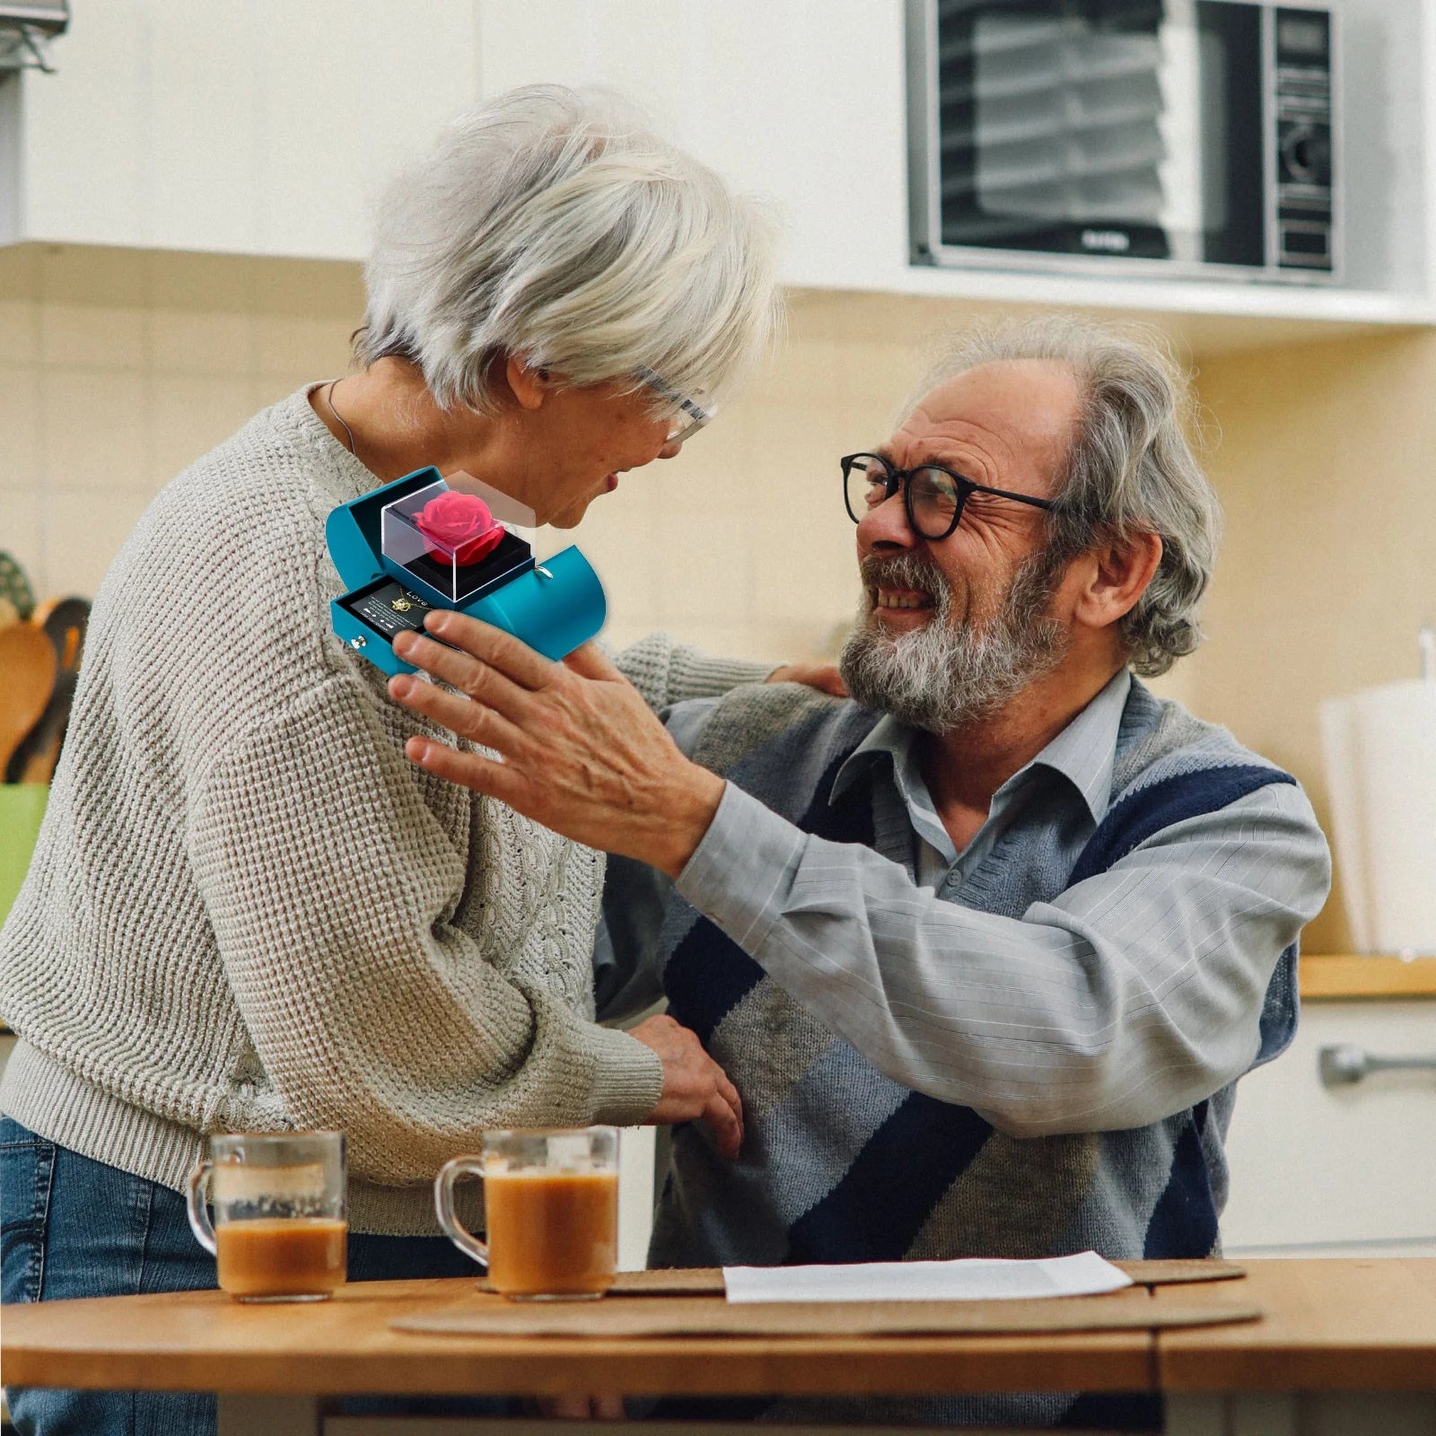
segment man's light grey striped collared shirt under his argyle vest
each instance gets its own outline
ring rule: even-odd
[[[1301,788],[1274,783],[1068,885],[1137,688],[1117,675],[1004,784],[962,854],[913,734],[880,724],[843,771],[870,785],[872,847],[806,833],[728,783],[676,890],[880,1073],[999,1130],[1139,1127],[1190,1107],[1251,1066],[1262,995],[1325,900],[1330,856]],[[712,712],[671,715],[681,748]],[[639,866],[610,869],[623,931],[596,955],[610,1012],[656,995],[658,972],[646,989],[640,975],[669,887],[651,873],[645,887]]]

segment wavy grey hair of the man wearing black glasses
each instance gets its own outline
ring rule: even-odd
[[[1048,517],[1050,567],[1104,536],[1162,540],[1162,561],[1117,629],[1129,662],[1165,673],[1202,642],[1196,606],[1211,582],[1221,540],[1221,505],[1188,442],[1198,424],[1186,376],[1153,330],[1044,314],[959,335],[929,370],[906,412],[945,379],[984,363],[1050,359],[1081,386],[1081,406]]]

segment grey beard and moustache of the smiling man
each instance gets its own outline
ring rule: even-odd
[[[880,577],[885,586],[931,593],[933,609],[920,629],[890,635],[864,592],[839,659],[847,691],[864,708],[938,735],[991,717],[1050,673],[1070,646],[1067,630],[1047,616],[1060,574],[1045,553],[1031,554],[987,623],[954,626],[952,593],[941,570],[915,554],[866,560],[864,590]]]

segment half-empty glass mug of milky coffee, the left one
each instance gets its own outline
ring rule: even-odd
[[[345,1195],[342,1132],[210,1137],[190,1226],[236,1301],[325,1301],[345,1284]]]

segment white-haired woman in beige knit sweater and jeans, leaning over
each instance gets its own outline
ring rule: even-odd
[[[593,1022],[602,856],[405,758],[438,729],[329,632],[323,526],[428,464],[577,524],[765,346],[765,223],[612,101],[534,88],[395,184],[366,279],[362,372],[175,478],[98,596],[0,943],[6,1301],[211,1285],[180,1196],[207,1133],[345,1130],[360,1279],[467,1269],[431,1180],[487,1127],[704,1119],[737,1149],[692,1034]],[[767,672],[666,639],[620,662],[655,705]],[[13,1409],[135,1430],[128,1396]]]

